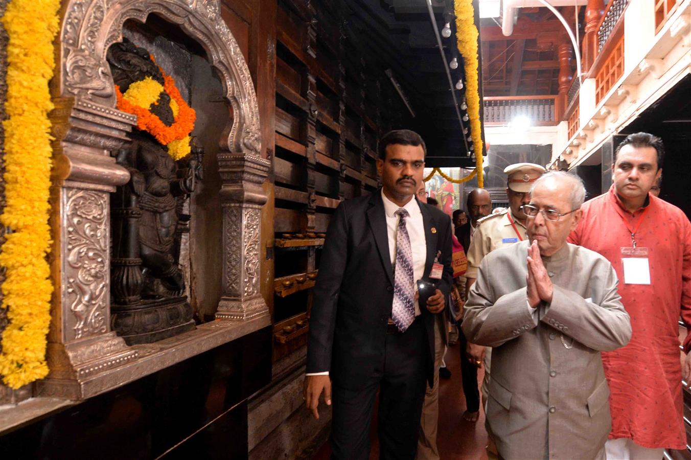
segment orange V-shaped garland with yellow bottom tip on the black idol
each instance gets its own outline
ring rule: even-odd
[[[166,75],[160,67],[159,70],[163,75],[163,90],[171,98],[171,110],[173,110],[173,106],[176,106],[173,113],[177,112],[177,116],[171,126],[167,126],[157,115],[151,113],[149,106],[144,107],[144,104],[135,104],[128,100],[130,98],[124,97],[120,91],[120,86],[115,85],[117,108],[121,111],[137,115],[137,127],[153,135],[155,140],[161,144],[168,146],[171,157],[173,157],[174,160],[180,160],[180,158],[189,154],[189,134],[194,129],[194,122],[196,121],[197,115],[194,109],[187,105],[187,102],[185,102],[182,95],[180,95],[180,90],[178,90],[173,77]],[[180,142],[183,140],[187,142]]]

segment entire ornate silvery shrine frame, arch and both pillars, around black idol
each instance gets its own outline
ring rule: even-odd
[[[128,19],[149,15],[175,23],[207,52],[216,68],[232,117],[218,153],[223,211],[223,293],[216,318],[200,334],[199,351],[270,324],[259,291],[262,184],[269,161],[261,137],[252,76],[236,40],[220,17],[218,0],[69,0],[61,10],[57,66],[51,90],[53,122],[53,327],[48,335],[50,375],[41,394],[81,399],[110,385],[113,368],[129,366],[122,384],[156,364],[153,348],[128,347],[111,331],[109,194],[129,180],[110,151],[129,142],[136,117],[115,108],[106,52],[122,40]],[[205,335],[206,334],[206,335]],[[203,340],[202,340],[203,339]],[[189,349],[186,351],[189,355]],[[182,356],[187,356],[184,353]],[[141,360],[146,365],[140,364]],[[158,361],[157,361],[158,360]],[[111,373],[109,377],[104,372]],[[138,374],[138,372],[140,372]],[[88,383],[86,383],[88,381]]]

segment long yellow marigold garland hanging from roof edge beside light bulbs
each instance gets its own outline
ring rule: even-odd
[[[471,137],[475,145],[477,186],[484,186],[482,177],[482,124],[480,124],[480,85],[477,82],[477,27],[471,0],[455,0],[456,39],[463,56],[466,73],[466,104],[471,123]],[[469,177],[469,176],[468,176]]]

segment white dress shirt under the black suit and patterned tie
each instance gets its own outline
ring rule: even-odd
[[[394,268],[396,263],[396,234],[398,232],[398,219],[396,211],[399,210],[399,205],[395,204],[384,195],[384,189],[381,189],[381,200],[384,201],[384,213],[386,213],[386,234],[389,242],[389,256],[391,258],[391,267]],[[424,276],[425,263],[427,262],[427,239],[425,238],[425,227],[422,223],[422,212],[415,197],[403,207],[408,211],[409,217],[406,220],[406,229],[408,230],[408,237],[410,237],[410,249],[413,251],[413,281],[417,281]],[[417,291],[417,285],[415,285]],[[415,300],[415,316],[419,316],[420,307]],[[305,375],[328,375],[329,372],[313,372]]]

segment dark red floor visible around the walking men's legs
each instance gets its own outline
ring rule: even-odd
[[[449,347],[446,353],[446,366],[451,370],[451,379],[441,380],[439,387],[439,434],[437,437],[439,457],[442,460],[486,460],[487,455],[484,448],[487,444],[487,433],[484,430],[484,414],[481,412],[477,423],[466,422],[461,416],[466,408],[466,403],[461,387],[458,345]],[[478,382],[482,382],[482,375],[482,372],[478,373]],[[375,410],[375,414],[376,412]],[[373,421],[370,434],[372,439],[370,459],[379,458],[376,425],[376,421]],[[329,445],[325,443],[312,457],[312,460],[327,460],[330,454]]]

